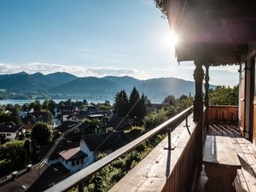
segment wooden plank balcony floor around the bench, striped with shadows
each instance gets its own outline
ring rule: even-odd
[[[210,124],[207,135],[231,137],[233,146],[241,161],[241,169],[237,170],[235,179],[236,191],[256,192],[256,159],[253,156],[252,143],[241,137],[236,125]],[[203,192],[205,183],[207,183],[207,175],[203,169],[196,191]]]

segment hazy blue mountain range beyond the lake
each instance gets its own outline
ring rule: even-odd
[[[139,80],[129,76],[103,78],[79,78],[70,73],[28,74],[25,72],[0,75],[0,89],[29,92],[45,91],[50,94],[115,96],[119,90],[130,93],[133,87],[149,97],[154,96],[193,96],[195,83],[176,78]],[[214,86],[211,86],[214,88]]]

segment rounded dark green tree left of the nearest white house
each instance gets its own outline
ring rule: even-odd
[[[52,130],[46,123],[37,123],[32,129],[32,139],[36,141],[38,145],[44,145],[51,141]]]

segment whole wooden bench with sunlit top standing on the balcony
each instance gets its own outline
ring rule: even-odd
[[[234,180],[241,163],[230,137],[207,136],[202,163],[208,177],[205,191],[236,191]]]

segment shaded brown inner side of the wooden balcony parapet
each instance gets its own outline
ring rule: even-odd
[[[205,112],[206,111],[204,110],[201,121],[195,124],[195,128],[190,132],[190,136],[182,138],[185,141],[183,151],[178,157],[177,163],[173,167],[172,173],[167,179],[164,189],[161,191],[194,191],[196,177],[198,172],[201,172],[203,143],[205,142],[207,131],[205,126]]]

